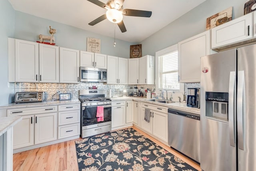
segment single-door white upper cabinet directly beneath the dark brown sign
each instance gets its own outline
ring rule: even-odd
[[[128,83],[132,85],[139,84],[139,59],[130,58],[128,65]]]

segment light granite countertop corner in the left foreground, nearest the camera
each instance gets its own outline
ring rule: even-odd
[[[10,127],[21,121],[21,116],[1,117],[0,119],[0,136],[4,134]]]

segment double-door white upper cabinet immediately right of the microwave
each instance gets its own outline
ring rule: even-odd
[[[128,59],[108,56],[107,84],[128,83]]]

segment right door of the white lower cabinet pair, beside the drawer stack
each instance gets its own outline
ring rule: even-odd
[[[57,113],[35,115],[35,144],[57,139]]]

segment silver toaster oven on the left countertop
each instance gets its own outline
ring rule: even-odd
[[[15,93],[15,103],[41,102],[44,101],[44,92],[17,92]]]

